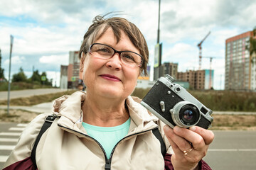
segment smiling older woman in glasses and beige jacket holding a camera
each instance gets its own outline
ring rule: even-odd
[[[36,137],[49,114],[38,115],[23,131],[5,170],[36,166],[54,170],[210,169],[202,158],[213,132],[199,127],[171,129],[130,96],[139,75],[146,74],[149,57],[146,40],[133,23],[97,16],[85,33],[79,55],[86,93],[78,91],[55,100],[57,118],[36,141],[33,155]],[[164,157],[152,133],[155,128],[164,139]]]

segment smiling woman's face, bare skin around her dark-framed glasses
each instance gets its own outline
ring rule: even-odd
[[[95,43],[110,45],[118,51],[132,51],[139,54],[127,35],[121,33],[117,43],[112,28],[108,28]],[[85,82],[87,95],[97,95],[105,98],[119,98],[124,100],[132,94],[137,85],[140,67],[129,67],[122,64],[119,54],[116,53],[108,60],[87,55],[81,60],[82,79]]]

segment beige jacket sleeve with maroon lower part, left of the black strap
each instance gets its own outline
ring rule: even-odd
[[[16,147],[4,164],[4,169],[17,169],[17,166],[21,166],[21,163],[23,166],[24,164],[30,164],[31,150],[47,115],[38,115],[26,126],[18,139]]]

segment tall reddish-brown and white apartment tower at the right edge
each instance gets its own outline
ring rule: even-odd
[[[252,56],[246,48],[253,37],[253,31],[247,31],[225,40],[226,90],[256,89],[256,66],[252,64]]]

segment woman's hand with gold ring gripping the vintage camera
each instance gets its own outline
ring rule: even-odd
[[[164,132],[174,150],[171,156],[174,169],[197,169],[198,162],[206,156],[214,138],[212,131],[198,126],[188,130],[178,126],[172,129],[165,125]]]

